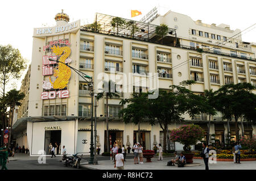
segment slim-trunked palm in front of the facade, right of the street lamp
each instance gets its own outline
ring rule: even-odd
[[[105,86],[108,86],[105,88]],[[102,88],[104,88],[104,91],[97,94],[96,99],[99,100],[101,98],[106,97],[106,147],[107,152],[110,152],[110,146],[109,146],[109,99],[112,99],[114,96],[119,97],[119,94],[117,94],[117,91],[115,89],[116,84],[113,81],[106,82],[104,81],[104,85]]]

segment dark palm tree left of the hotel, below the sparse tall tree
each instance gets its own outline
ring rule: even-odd
[[[15,106],[20,106],[21,103],[19,102],[20,100],[24,99],[24,94],[23,92],[19,92],[16,89],[10,90],[6,94],[6,100],[7,100],[7,106],[10,107],[9,110],[9,121],[8,121],[8,127],[11,127],[10,132],[9,132],[9,145],[11,141],[11,131],[13,129],[13,116],[14,116],[14,110]]]

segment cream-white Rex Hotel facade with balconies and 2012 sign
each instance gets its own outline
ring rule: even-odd
[[[108,112],[110,136],[118,145],[133,146],[133,142],[138,141],[138,125],[123,123],[117,114],[123,108],[119,102],[130,98],[133,90],[150,90],[143,82],[157,80],[159,89],[164,90],[170,85],[193,79],[196,84],[188,88],[195,94],[203,94],[206,89],[217,90],[227,83],[251,82],[256,86],[256,44],[243,42],[241,36],[229,39],[240,30],[230,30],[225,24],[204,24],[172,11],[163,16],[155,12],[152,14],[151,24],[136,22],[139,31],[134,35],[125,30],[113,30],[109,23],[114,17],[102,14],[96,15],[97,23],[101,24],[101,31],[98,32],[82,26],[80,20],[69,23],[68,15],[63,12],[56,15],[55,27],[35,28],[32,62],[20,90],[26,93],[26,97],[18,108],[18,117],[13,125],[16,144],[24,145],[31,155],[39,154],[39,150],[48,154],[50,142],[57,142],[61,147],[65,145],[69,154],[89,154],[90,91],[85,80],[73,70],[67,87],[51,87],[49,80],[54,84],[66,72],[53,74],[57,64],[48,61],[49,57],[56,58],[51,49],[53,45],[71,49],[66,59],[68,65],[92,76],[96,93],[101,88],[98,85],[104,78],[103,73],[109,77],[110,73],[115,75],[122,92],[119,98],[109,100]],[[163,39],[164,45],[154,33],[154,24],[160,23],[166,23],[170,28],[170,33]],[[221,42],[224,44],[220,45]],[[204,51],[199,52],[198,49]],[[157,73],[156,78],[154,74],[147,73]],[[64,79],[68,75],[65,76]],[[124,91],[128,85],[130,90]],[[101,148],[102,153],[107,140],[106,99],[100,99],[97,105],[97,148]],[[184,118],[184,123],[171,124],[169,129],[194,123],[207,130],[206,115],[193,119],[184,115]],[[224,142],[226,121],[221,119],[220,114],[212,119],[210,134],[216,134]],[[243,127],[246,136],[255,134],[256,125],[244,123]],[[241,124],[239,128],[242,134]],[[230,129],[234,136],[234,123],[230,124]],[[152,149],[155,144],[163,143],[163,132],[158,124],[150,125],[144,121],[141,130],[144,148]],[[182,150],[182,145],[172,146]]]

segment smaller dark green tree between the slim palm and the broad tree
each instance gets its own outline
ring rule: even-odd
[[[128,104],[126,108],[123,108],[119,112],[119,117],[123,118],[125,123],[130,121],[134,124],[138,124],[138,138],[141,142],[141,121],[147,118],[149,113],[148,93],[146,92],[133,92],[133,98],[122,99],[119,104]]]

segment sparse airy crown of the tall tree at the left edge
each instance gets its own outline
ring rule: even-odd
[[[27,68],[26,60],[18,49],[11,45],[0,45],[0,87],[2,97],[5,96],[6,85],[13,79],[18,79]]]

